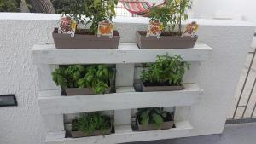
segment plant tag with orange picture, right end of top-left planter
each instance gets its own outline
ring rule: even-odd
[[[109,38],[113,37],[113,22],[110,20],[103,20],[98,24],[98,33],[97,36],[108,36]]]

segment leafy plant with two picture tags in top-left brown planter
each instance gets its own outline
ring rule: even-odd
[[[59,28],[52,33],[57,49],[118,49],[119,32],[113,31],[118,0],[73,0],[63,9]],[[84,18],[86,17],[86,18]],[[80,26],[89,26],[89,29]]]

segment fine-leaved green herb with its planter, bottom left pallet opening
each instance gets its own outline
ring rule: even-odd
[[[71,137],[87,137],[96,135],[109,135],[113,127],[113,118],[103,115],[102,112],[82,114],[80,118],[72,121]]]

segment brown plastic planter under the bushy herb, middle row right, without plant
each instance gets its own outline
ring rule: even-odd
[[[151,91],[177,91],[184,89],[182,86],[145,86],[143,81],[140,81],[141,89],[143,92],[151,92]]]

